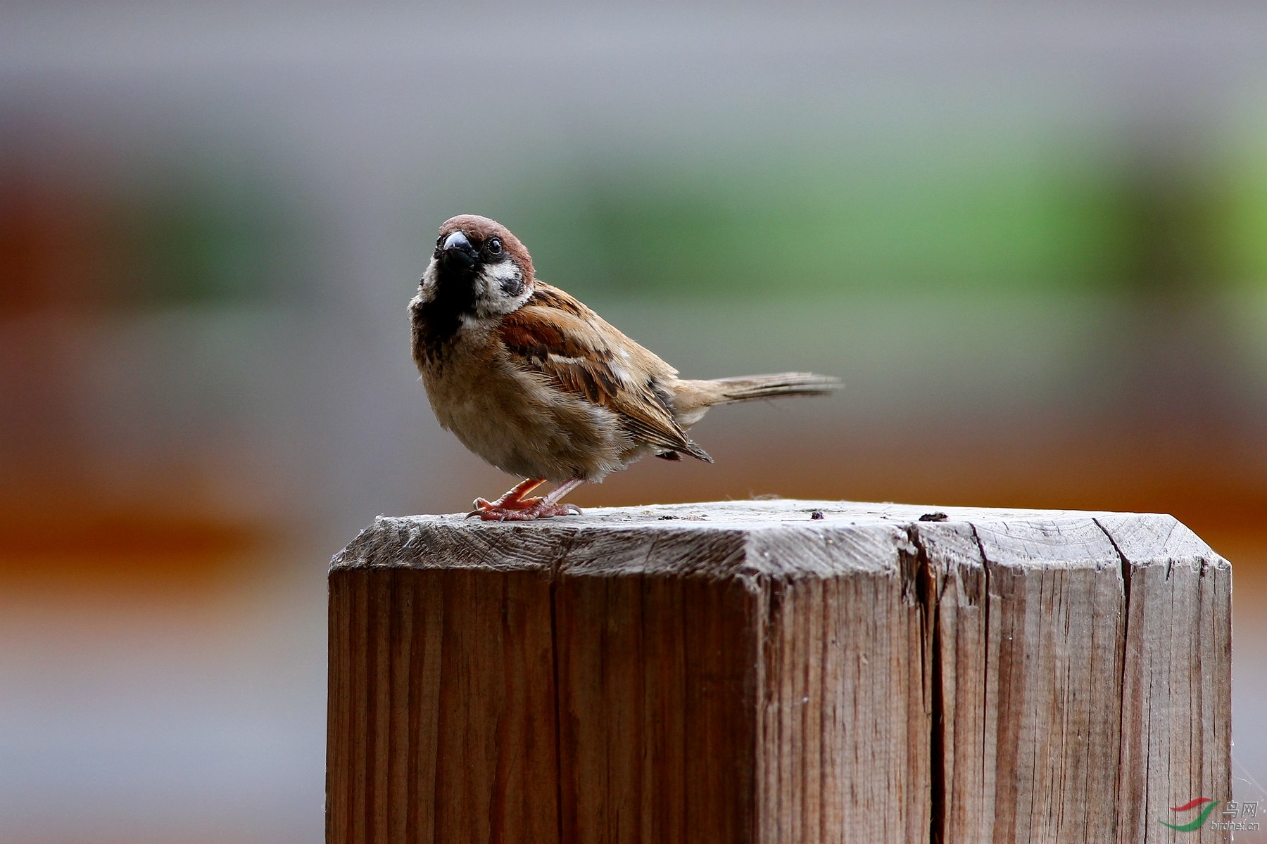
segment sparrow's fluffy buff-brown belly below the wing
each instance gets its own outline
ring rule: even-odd
[[[631,442],[616,414],[511,367],[427,378],[440,424],[503,472],[599,481],[625,467]]]

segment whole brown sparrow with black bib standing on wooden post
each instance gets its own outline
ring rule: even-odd
[[[712,463],[687,431],[713,405],[841,386],[806,372],[679,378],[579,300],[540,281],[504,225],[473,214],[440,227],[409,321],[413,359],[441,428],[523,478],[497,500],[475,500],[468,515],[484,520],[580,515],[560,502],[568,492],[649,454]],[[527,497],[546,481],[557,486]]]

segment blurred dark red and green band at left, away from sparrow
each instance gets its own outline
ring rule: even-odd
[[[319,252],[295,199],[232,162],[92,178],[34,158],[0,159],[0,315],[267,299],[302,286]]]

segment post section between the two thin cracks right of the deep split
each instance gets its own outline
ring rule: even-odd
[[[1114,840],[1125,592],[1112,544],[1091,519],[974,529],[1003,772],[995,838]]]

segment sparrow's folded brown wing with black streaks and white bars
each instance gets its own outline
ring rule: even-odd
[[[636,439],[711,462],[674,421],[668,394],[656,388],[677,371],[564,291],[536,282],[532,297],[502,320],[500,338],[517,366],[618,414]]]

